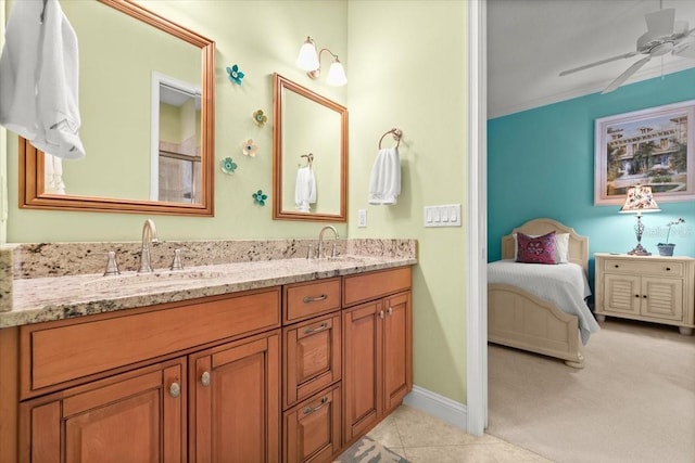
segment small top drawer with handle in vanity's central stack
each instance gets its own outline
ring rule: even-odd
[[[293,323],[340,308],[340,279],[285,286],[285,322]]]

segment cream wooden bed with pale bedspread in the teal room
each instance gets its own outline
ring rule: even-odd
[[[514,262],[517,233],[538,236],[552,231],[558,235],[568,234],[565,240],[569,265]],[[555,278],[554,274],[560,273],[559,270],[572,270],[577,274],[572,278],[579,281],[572,280],[571,285],[583,285],[584,290],[580,292],[568,288],[567,293],[571,293],[570,301],[560,303],[555,296],[545,298],[545,295],[542,295],[541,297],[536,290],[520,287],[516,282],[510,283],[506,276],[497,274],[497,268],[514,266],[522,267],[522,271],[527,273],[526,279],[529,279],[531,273],[546,272],[538,276],[544,286],[549,286],[548,282]],[[587,266],[589,239],[553,219],[530,220],[514,229],[510,234],[503,236],[502,261],[488,263],[488,340],[555,357],[572,368],[583,368],[582,345],[589,340],[591,333],[599,330],[584,301],[584,298],[591,294],[586,281]]]

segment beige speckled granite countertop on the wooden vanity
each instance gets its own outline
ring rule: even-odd
[[[118,275],[15,279],[0,329],[417,263],[414,253],[233,261]]]

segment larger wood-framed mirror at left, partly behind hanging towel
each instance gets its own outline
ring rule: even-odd
[[[215,43],[130,0],[63,2],[80,47],[80,139],[20,138],[20,207],[213,215]]]

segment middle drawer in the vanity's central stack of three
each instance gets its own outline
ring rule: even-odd
[[[285,408],[340,380],[340,313],[286,327],[282,338]]]

